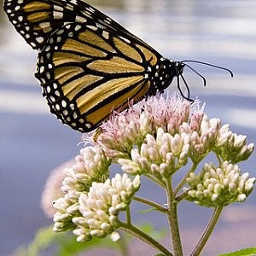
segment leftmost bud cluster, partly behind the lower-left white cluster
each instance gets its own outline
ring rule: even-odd
[[[73,217],[80,216],[79,196],[88,193],[91,183],[105,182],[108,178],[110,161],[99,147],[81,149],[75,164],[66,169],[61,190],[64,196],[54,202],[54,230],[73,230]]]

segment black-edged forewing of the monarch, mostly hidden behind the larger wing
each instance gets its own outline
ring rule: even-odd
[[[94,23],[99,27],[108,27],[112,32],[119,32],[120,36],[126,35],[143,42],[119,23],[81,0],[6,0],[4,10],[17,32],[33,49],[42,49],[49,35],[67,22]]]

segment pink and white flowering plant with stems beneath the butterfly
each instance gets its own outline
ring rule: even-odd
[[[79,242],[106,236],[118,241],[122,230],[160,255],[183,255],[177,205],[186,200],[212,207],[212,218],[191,253],[200,255],[224,207],[246,201],[255,183],[255,177],[237,165],[252,154],[253,143],[247,144],[246,136],[233,133],[220,119],[209,119],[199,102],[191,105],[176,95],[149,97],[113,113],[100,130],[84,135],[84,142],[73,166],[65,169],[63,196],[54,202],[53,230],[73,230]],[[92,146],[87,146],[89,142]],[[204,161],[210,153],[216,157],[214,163]],[[113,163],[122,173],[109,177]],[[174,184],[173,177],[182,168],[187,172]],[[137,196],[142,176],[164,189],[166,198],[155,202]],[[134,224],[131,201],[166,216],[170,247]],[[125,220],[119,218],[120,212],[125,212]]]

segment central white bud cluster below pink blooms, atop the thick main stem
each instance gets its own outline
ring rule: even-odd
[[[156,138],[148,134],[140,150],[131,149],[131,160],[119,159],[124,172],[131,174],[150,173],[155,177],[169,177],[181,166],[186,165],[189,155],[189,137],[172,136],[158,128]]]

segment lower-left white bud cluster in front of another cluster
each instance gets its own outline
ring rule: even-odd
[[[73,223],[78,226],[73,230],[77,240],[88,241],[92,236],[102,238],[108,234],[116,240],[118,236],[113,231],[119,227],[118,214],[130,205],[131,197],[139,187],[139,176],[131,181],[127,174],[116,174],[105,183],[92,183],[89,193],[79,197],[82,217],[73,218]]]

